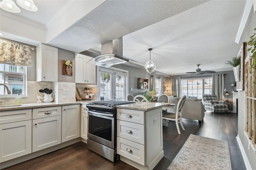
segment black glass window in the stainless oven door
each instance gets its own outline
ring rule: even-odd
[[[112,119],[111,117],[89,115],[88,132],[112,142],[112,121],[114,121]]]

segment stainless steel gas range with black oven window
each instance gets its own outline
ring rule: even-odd
[[[116,153],[116,105],[135,103],[131,101],[95,101],[88,108],[87,148],[112,162],[119,159]]]

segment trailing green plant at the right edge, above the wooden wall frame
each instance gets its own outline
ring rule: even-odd
[[[256,31],[256,28],[254,28],[254,31]],[[250,37],[250,41],[248,41],[247,44],[251,46],[250,48],[247,49],[247,51],[250,52],[250,57],[252,57],[252,59],[255,59],[256,58],[256,33],[253,33],[253,35]],[[256,60],[252,62],[252,66],[250,67],[250,69],[251,69],[250,73],[255,72]],[[254,69],[254,71],[252,71],[252,69]],[[253,83],[256,84],[256,81],[253,81]]]

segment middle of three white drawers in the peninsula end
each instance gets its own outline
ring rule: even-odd
[[[144,125],[117,120],[117,136],[144,144]]]

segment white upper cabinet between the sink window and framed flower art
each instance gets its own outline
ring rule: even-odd
[[[58,48],[36,46],[36,81],[58,82]]]

